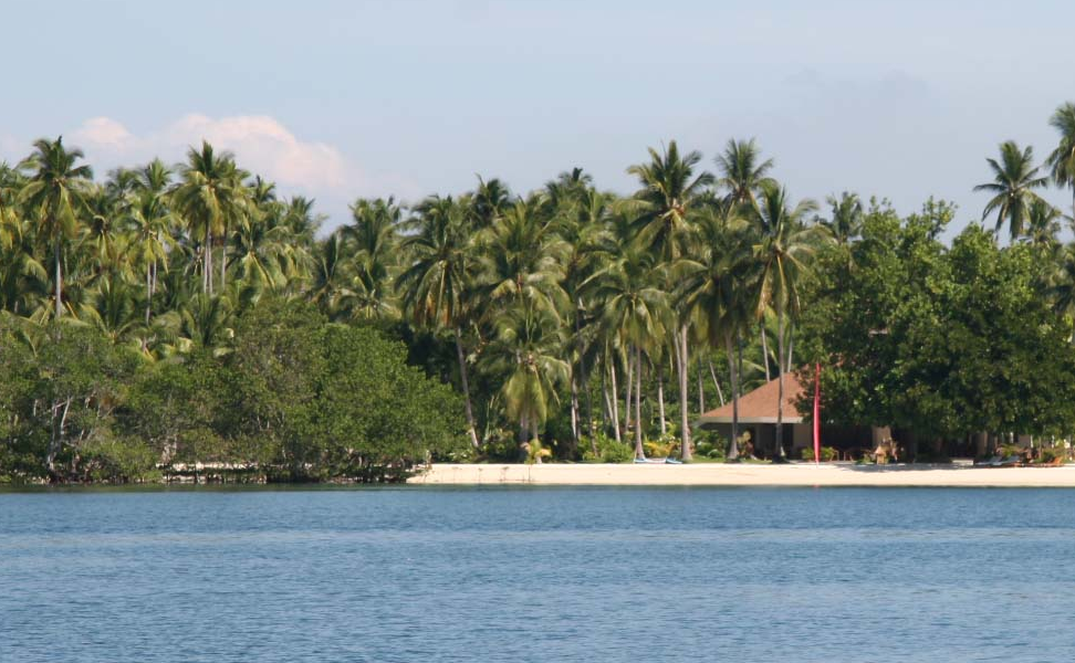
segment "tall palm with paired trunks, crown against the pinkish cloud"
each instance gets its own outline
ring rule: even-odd
[[[236,167],[231,152],[217,154],[209,143],[201,141],[201,150],[187,151],[182,181],[174,198],[177,210],[187,219],[191,233],[205,238],[202,244],[202,290],[212,293],[213,238],[228,234],[246,208],[247,173]],[[227,261],[221,256],[221,286]]]

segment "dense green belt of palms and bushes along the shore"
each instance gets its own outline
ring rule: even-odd
[[[351,221],[323,238],[313,201],[279,197],[273,183],[207,143],[181,164],[158,159],[97,181],[79,149],[62,138],[42,139],[22,162],[0,166],[2,344],[4,360],[14,362],[9,370],[27,376],[8,385],[23,389],[24,398],[12,393],[0,404],[0,462],[8,473],[17,465],[27,476],[61,480],[79,475],[75,459],[88,457],[91,446],[140,440],[147,444],[138,448],[143,459],[255,457],[289,476],[320,476],[311,469],[333,454],[352,454],[348,444],[359,443],[319,413],[327,408],[325,376],[341,370],[324,362],[342,329],[364,334],[347,337],[355,348],[388,344],[384,352],[401,368],[384,366],[386,375],[406,365],[420,369],[405,379],[383,376],[386,383],[398,379],[440,399],[395,428],[363,433],[385,444],[387,430],[421,440],[424,451],[413,445],[398,456],[408,462],[428,454],[540,460],[647,451],[689,460],[701,442],[734,460],[738,427],[728,440],[692,440],[697,414],[726,400],[735,409],[744,390],[773,378],[783,399],[784,376],[816,361],[826,366],[831,421],[898,425],[922,439],[983,430],[1066,434],[1075,422],[1066,408],[1053,408],[1047,422],[1040,414],[1050,409],[1050,383],[1069,380],[1075,249],[1057,239],[1071,217],[1037,191],[1052,183],[1075,194],[1075,105],[1061,106],[1051,123],[1060,140],[1044,166],[1034,164],[1031,148],[1011,141],[1001,145],[1000,159],[988,160],[993,179],[978,189],[993,194],[982,218],[995,214],[995,228],[972,224],[951,248],[939,239],[953,215],[950,206],[931,200],[921,213],[900,219],[884,201],[864,202],[854,193],[832,196],[825,206],[794,200],[753,139],[729,140],[710,169],[700,152],[681,151],[675,141],[649,149],[627,169],[638,185],[627,196],[597,188],[575,168],[524,194],[500,179],[479,178],[471,191],[411,206],[359,199]],[[1005,225],[1009,239],[1001,245]],[[998,290],[977,292],[983,283]],[[1001,301],[1011,305],[1003,312],[1003,328],[1015,334],[1006,339],[1011,347],[996,345],[999,313],[963,320],[966,347],[992,356],[991,366],[1003,370],[967,379],[959,408],[954,392],[942,388],[969,370],[956,355],[947,365],[905,370],[935,338],[926,320],[938,334],[953,328],[951,319],[923,312],[971,316]],[[267,312],[290,322],[273,322]],[[302,361],[265,355],[275,347],[267,334],[298,339],[295,329],[316,340],[296,345],[306,354]],[[1016,352],[1031,340],[1019,337],[1023,329],[1047,341],[1050,355],[1036,360],[1054,359],[1064,370],[1041,372]],[[1056,339],[1063,347],[1054,347]],[[67,359],[50,365],[50,352],[67,352]],[[111,358],[112,368],[75,361],[91,354]],[[311,372],[272,372],[288,361]],[[76,365],[86,375],[114,375],[116,388],[107,394],[75,389],[70,401],[50,400],[53,376]],[[904,372],[889,375],[894,365]],[[1005,382],[1024,369],[1048,380]],[[132,414],[135,403],[148,393],[165,396],[139,380],[168,383],[176,371],[192,385],[176,387],[190,394],[181,406],[208,407],[195,394],[212,393],[212,404],[230,403],[229,421],[216,414],[188,421],[177,412],[168,421],[188,428],[148,432]],[[219,371],[230,377],[216,386],[203,381]],[[312,381],[289,381],[300,375]],[[956,417],[985,408],[974,385],[987,377],[994,390],[990,408],[1019,400],[1039,409],[973,421]],[[259,379],[261,391],[237,387]],[[881,382],[889,391],[877,391]],[[364,393],[376,391],[372,383]],[[441,385],[449,392],[434,388]],[[897,402],[893,390],[902,390],[904,400]],[[276,391],[319,398],[302,413],[273,419],[257,411],[279,398]],[[922,398],[909,398],[916,392]],[[237,401],[237,393],[244,396]],[[450,406],[453,398],[458,408]],[[916,410],[922,399],[943,403]],[[71,403],[108,425],[75,425],[64,418]],[[140,417],[152,419],[154,409]],[[441,424],[428,428],[426,420],[438,418]],[[298,420],[316,423],[306,434],[274,438]],[[442,440],[432,444],[438,435]],[[288,451],[289,443],[302,446],[313,438],[320,439],[310,443],[316,453]],[[206,443],[195,443],[199,439]],[[268,448],[251,451],[269,439]],[[177,440],[190,443],[177,446]],[[784,448],[779,439],[776,460]],[[58,457],[66,471],[58,470]]]

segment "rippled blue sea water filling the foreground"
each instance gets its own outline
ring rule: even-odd
[[[0,493],[0,661],[1075,661],[1075,491]]]

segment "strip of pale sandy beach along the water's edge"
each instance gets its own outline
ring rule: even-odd
[[[620,486],[1024,486],[1075,487],[1075,465],[974,467],[951,465],[791,464],[604,465],[435,464],[408,483],[441,485]]]

